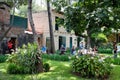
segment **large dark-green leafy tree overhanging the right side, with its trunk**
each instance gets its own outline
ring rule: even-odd
[[[76,35],[87,31],[87,48],[91,47],[91,35],[95,32],[109,35],[112,28],[120,26],[120,1],[118,0],[78,0],[71,5],[63,5],[66,0],[54,2],[57,12],[64,9],[64,24]],[[104,28],[102,31],[101,28]]]

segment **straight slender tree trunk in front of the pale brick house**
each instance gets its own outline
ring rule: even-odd
[[[53,26],[52,26],[52,19],[51,19],[51,11],[50,11],[49,0],[47,0],[47,11],[48,11],[49,32],[50,32],[50,52],[55,53]]]

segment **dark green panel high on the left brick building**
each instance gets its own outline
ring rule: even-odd
[[[13,27],[19,27],[19,28],[27,28],[27,18],[19,17],[14,15],[13,23],[12,23],[12,15],[10,15],[10,25]]]

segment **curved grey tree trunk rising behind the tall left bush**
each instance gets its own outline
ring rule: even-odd
[[[32,0],[28,0],[28,19],[30,22],[30,26],[32,28],[34,42],[38,44],[37,33],[35,31],[35,26],[34,26],[33,17],[32,17]],[[38,50],[39,50],[39,47],[38,47]],[[40,53],[39,57],[40,57],[39,58],[40,63],[37,64],[36,68],[37,68],[38,72],[43,72],[43,63],[42,63],[42,59],[41,59],[41,53]]]

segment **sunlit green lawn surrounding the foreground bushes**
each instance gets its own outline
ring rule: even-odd
[[[71,62],[44,60],[50,64],[50,72],[36,75],[10,75],[6,73],[7,63],[0,63],[0,80],[91,80],[75,76],[70,71]],[[33,79],[34,78],[34,79]],[[120,66],[114,66],[109,80],[120,79]]]

